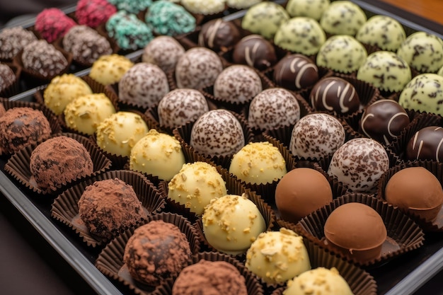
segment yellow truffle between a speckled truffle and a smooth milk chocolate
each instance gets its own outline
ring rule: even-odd
[[[272,183],[287,173],[286,161],[270,142],[250,142],[232,156],[229,173],[245,183]]]

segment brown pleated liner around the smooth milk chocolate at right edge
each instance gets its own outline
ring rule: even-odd
[[[394,166],[386,171],[379,179],[379,185],[377,190],[377,197],[382,201],[386,202],[384,197],[384,189],[388,184],[391,177],[398,171],[409,168],[409,167],[423,167],[429,170],[435,177],[439,180],[440,184],[443,183],[443,163],[438,163],[437,161],[408,161],[403,162],[398,166]],[[394,205],[394,207],[396,207]],[[400,209],[405,215],[408,215],[420,228],[425,232],[443,232],[443,207],[439,208],[437,213],[437,218],[435,220],[427,220],[424,217],[420,217],[417,213],[411,212],[409,210]]]

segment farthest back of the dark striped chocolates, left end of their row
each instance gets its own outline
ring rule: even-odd
[[[240,40],[240,30],[231,21],[216,18],[202,25],[198,34],[198,45],[215,52],[226,51]]]

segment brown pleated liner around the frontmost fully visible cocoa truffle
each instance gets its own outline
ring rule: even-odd
[[[192,255],[200,251],[200,241],[197,238],[197,233],[194,227],[185,219],[185,217],[178,214],[172,213],[159,213],[148,216],[146,221],[143,221],[138,226],[148,224],[150,221],[165,221],[178,226],[182,233],[185,233],[186,238],[190,243],[190,249]],[[125,246],[129,238],[134,233],[134,229],[127,229],[125,232],[121,233],[119,236],[115,237],[113,241],[110,241],[108,245],[103,248],[103,250],[98,255],[96,260],[96,267],[100,272],[105,274],[105,276],[113,279],[115,282],[120,283],[125,288],[134,292],[137,295],[147,295],[151,294],[152,291],[161,287],[164,282],[159,284],[159,286],[148,286],[146,284],[139,283],[132,279],[125,262],[123,261],[123,255],[125,253]],[[188,265],[192,263],[192,258],[189,258]],[[175,277],[165,277],[166,279],[175,279]]]

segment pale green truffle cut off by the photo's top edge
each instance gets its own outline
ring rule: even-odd
[[[329,0],[289,0],[286,4],[286,11],[292,17],[306,16],[318,21],[329,4]]]

